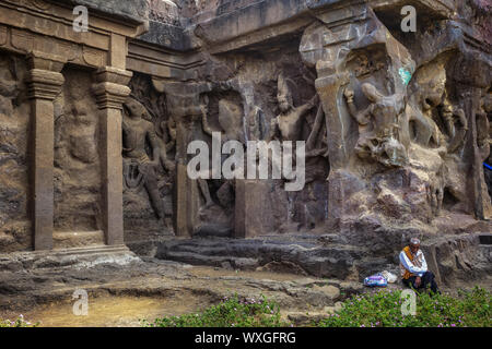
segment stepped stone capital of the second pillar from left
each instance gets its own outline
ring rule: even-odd
[[[122,104],[131,93],[127,84],[132,75],[130,71],[114,67],[99,68],[94,74],[96,83],[92,86],[98,108],[122,109]]]

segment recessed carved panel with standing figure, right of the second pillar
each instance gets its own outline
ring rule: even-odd
[[[122,119],[124,213],[129,241],[174,233],[176,152],[176,124],[167,112],[166,96],[142,74],[134,74],[130,87]]]

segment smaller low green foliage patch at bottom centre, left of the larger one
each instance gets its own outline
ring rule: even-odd
[[[186,314],[143,321],[147,327],[284,327],[290,324],[280,318],[279,305],[267,301],[225,298],[220,304],[206,309],[200,314]]]

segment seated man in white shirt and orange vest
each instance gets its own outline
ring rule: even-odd
[[[434,274],[427,270],[427,263],[420,250],[420,240],[412,238],[410,245],[400,253],[400,270],[403,285],[415,290],[431,288],[432,292],[441,293],[434,279]]]

